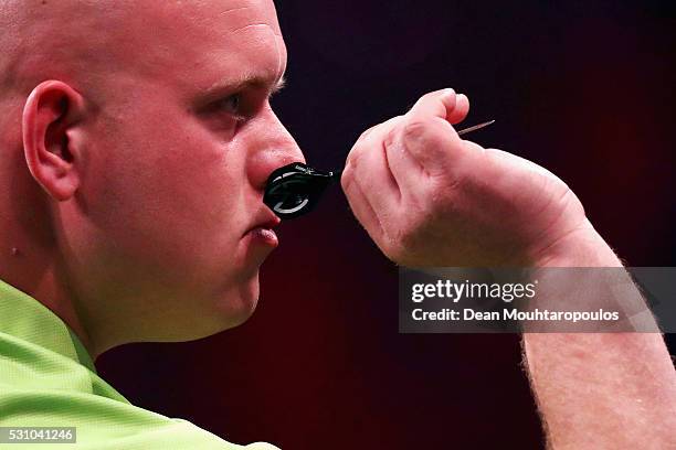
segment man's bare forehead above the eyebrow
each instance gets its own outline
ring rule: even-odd
[[[273,83],[285,69],[272,0],[148,3],[156,9],[134,20],[134,34],[140,36],[129,43],[137,60],[131,65],[157,83],[205,90],[246,78]]]

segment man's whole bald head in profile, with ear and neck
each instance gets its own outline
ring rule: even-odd
[[[272,1],[2,1],[0,28],[0,278],[94,354],[245,320],[265,180],[303,161]]]

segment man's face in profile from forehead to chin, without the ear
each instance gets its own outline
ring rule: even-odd
[[[276,245],[249,233],[275,222],[265,181],[303,161],[268,103],[286,49],[272,1],[144,4],[103,43],[119,62],[60,239],[92,329],[196,339],[253,312]]]

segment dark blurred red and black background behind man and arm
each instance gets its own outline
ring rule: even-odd
[[[327,3],[277,4],[289,66],[273,106],[310,164],[339,167],[363,129],[454,87],[467,125],[497,120],[469,139],[558,174],[627,265],[675,265],[674,2]],[[542,447],[519,338],[399,334],[397,268],[337,186],[279,236],[246,324],[115,349],[102,376],[235,442]]]

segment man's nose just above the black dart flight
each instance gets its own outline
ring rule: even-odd
[[[292,162],[305,162],[300,148],[271,108],[267,108],[251,130],[252,148],[247,153],[246,174],[256,191],[264,191],[267,178]]]

